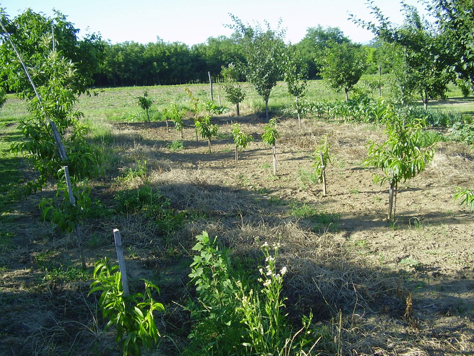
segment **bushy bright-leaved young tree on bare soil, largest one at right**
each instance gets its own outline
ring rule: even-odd
[[[394,219],[398,183],[414,178],[425,169],[434,156],[431,147],[423,147],[423,131],[420,122],[405,124],[402,120],[387,123],[385,133],[387,141],[378,144],[367,142],[368,154],[364,160],[365,167],[382,169],[374,173],[374,182],[383,184],[388,181],[389,208],[388,219]]]

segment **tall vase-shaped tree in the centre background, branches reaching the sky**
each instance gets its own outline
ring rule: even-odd
[[[244,48],[244,57],[246,65],[241,66],[244,70],[247,81],[255,87],[258,95],[265,102],[266,119],[268,117],[268,99],[273,87],[278,79],[281,78],[281,56],[283,53],[283,38],[285,31],[280,28],[272,30],[266,23],[267,29],[264,30],[260,25],[252,28],[245,26],[240,19],[231,15],[235,28],[242,34],[242,43]]]

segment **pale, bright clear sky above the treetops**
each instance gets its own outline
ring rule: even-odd
[[[0,0],[10,18],[30,7],[35,12],[52,16],[52,9],[67,15],[80,28],[82,37],[100,32],[111,43],[135,41],[146,44],[160,37],[165,42],[183,42],[188,46],[203,43],[209,37],[233,32],[229,13],[244,23],[270,23],[276,29],[278,20],[286,28],[286,42],[297,43],[307,28],[338,27],[345,36],[358,43],[368,43],[374,36],[351,20],[349,13],[365,21],[373,20],[366,0]],[[405,0],[423,12],[417,0]],[[397,0],[375,0],[384,16],[393,23],[403,22],[401,4]]]

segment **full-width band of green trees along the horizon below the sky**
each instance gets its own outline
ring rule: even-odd
[[[470,94],[474,80],[471,2],[433,0],[428,4],[436,20],[432,22],[423,19],[414,7],[402,5],[406,15],[402,25],[392,24],[374,3],[369,7],[375,21],[365,22],[351,15],[354,22],[374,33],[374,41],[368,46],[351,42],[337,27],[320,25],[308,28],[300,42],[285,45],[284,31],[270,26],[252,28],[236,18],[232,18],[233,24],[229,25],[235,30],[230,37],[209,37],[205,43],[193,46],[164,42],[159,37],[148,44],[133,41],[111,44],[95,33],[79,39],[79,30],[60,12],[49,18],[27,9],[14,19],[1,12],[1,20],[27,66],[32,68],[45,56],[40,49],[45,46],[34,44],[52,38],[56,50],[75,64],[81,78],[76,89],[81,93],[92,85],[204,83],[209,80],[208,72],[214,81],[224,81],[221,70],[230,63],[238,69],[238,81],[252,82],[255,76],[268,75],[273,82],[287,75],[282,63],[288,62],[290,53],[292,66],[301,79],[324,78],[332,89],[344,90],[346,98],[363,73],[389,73],[389,83],[379,81],[371,85],[380,88],[390,84],[401,102],[416,94],[426,105],[429,100],[443,98],[451,82]],[[262,41],[264,37],[271,40]],[[282,63],[255,67],[259,63],[252,62],[253,55],[272,53],[273,60]],[[4,36],[0,54],[2,86],[9,91],[22,92],[25,78],[14,75],[21,71]],[[265,100],[267,95],[262,96]]]

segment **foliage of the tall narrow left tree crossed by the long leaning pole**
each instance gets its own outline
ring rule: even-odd
[[[43,62],[31,69],[31,76],[34,81],[41,78],[39,82],[44,83],[37,86],[42,102],[39,103],[36,96],[27,98],[31,116],[18,125],[25,140],[12,144],[10,151],[21,153],[28,159],[37,177],[14,191],[16,199],[40,190],[48,178],[60,179],[58,172],[64,165],[69,167],[71,178],[75,181],[94,178],[100,173],[100,149],[87,142],[88,128],[79,122],[83,114],[73,108],[77,101],[74,95],[76,74],[73,64],[51,51],[43,58]],[[57,153],[56,141],[46,115],[63,136],[67,161]]]

